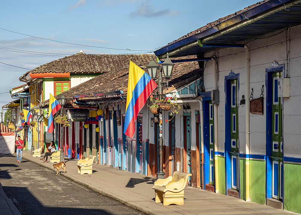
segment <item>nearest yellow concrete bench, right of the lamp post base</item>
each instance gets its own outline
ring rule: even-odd
[[[166,179],[158,179],[153,186],[155,190],[155,202],[163,201],[163,205],[184,204],[184,188],[190,173],[175,171]]]

